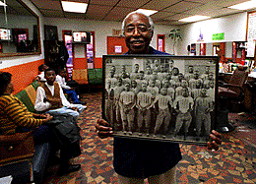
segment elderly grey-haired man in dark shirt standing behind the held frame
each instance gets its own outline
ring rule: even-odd
[[[137,12],[127,15],[122,24],[127,54],[168,55],[150,46],[154,33],[154,24],[150,17]],[[99,138],[112,135],[109,124],[98,119],[96,132]],[[214,142],[209,149],[219,149],[221,135],[216,131],[211,134]],[[181,160],[178,144],[114,138],[114,169],[120,183],[175,183],[175,165]]]

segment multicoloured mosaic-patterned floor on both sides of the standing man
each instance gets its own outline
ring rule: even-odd
[[[113,140],[100,140],[94,127],[96,119],[101,116],[101,93],[86,93],[83,98],[88,102],[88,109],[79,119],[84,137],[83,153],[74,159],[75,163],[82,164],[82,169],[59,177],[56,175],[58,165],[49,167],[45,173],[45,184],[117,183],[112,166]],[[177,184],[256,183],[256,131],[240,123],[246,119],[253,117],[229,114],[229,120],[236,129],[224,134],[218,152],[209,152],[199,146],[180,145],[183,159],[177,165]]]

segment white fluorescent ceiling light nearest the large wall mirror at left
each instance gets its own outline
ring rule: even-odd
[[[77,3],[69,1],[61,1],[61,3],[65,12],[86,13],[87,11],[87,3]]]

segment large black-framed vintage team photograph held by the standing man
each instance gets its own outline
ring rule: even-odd
[[[206,145],[219,57],[104,55],[102,117],[114,136]]]

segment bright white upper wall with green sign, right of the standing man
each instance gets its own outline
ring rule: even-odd
[[[200,42],[226,42],[245,41],[247,13],[240,13],[224,18],[218,18],[198,23],[181,26],[182,41],[178,47],[179,55],[187,55],[187,45]],[[197,41],[200,30],[203,34],[203,41]],[[224,40],[214,41],[214,33],[224,32]],[[197,51],[198,53],[198,51]]]

